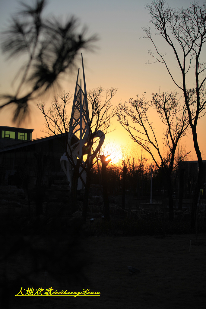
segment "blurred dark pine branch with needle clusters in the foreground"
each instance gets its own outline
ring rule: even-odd
[[[16,106],[13,120],[19,122],[28,112],[29,101],[58,85],[58,78],[72,68],[79,50],[88,48],[96,39],[95,36],[86,38],[85,29],[78,32],[74,17],[65,23],[53,17],[43,18],[46,0],[36,0],[31,6],[21,5],[22,11],[2,33],[2,52],[9,58],[25,55],[27,61],[18,73],[15,95],[0,97],[0,108]]]

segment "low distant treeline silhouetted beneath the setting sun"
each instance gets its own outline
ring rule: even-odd
[[[179,149],[178,149],[179,150]],[[182,147],[175,156],[175,164],[171,174],[171,192],[173,199],[179,192],[179,164],[187,160],[187,153]],[[109,195],[130,195],[139,200],[148,200],[150,196],[150,175],[151,170],[148,159],[145,158],[141,150],[140,156],[134,155],[126,160],[120,160],[119,163],[110,163],[107,166],[107,188]],[[91,184],[101,185],[101,162],[92,167]],[[186,180],[187,181],[187,180]],[[190,179],[188,180],[188,183]],[[188,184],[186,184],[188,186]],[[167,183],[165,182],[164,173],[161,169],[154,166],[153,169],[153,197],[154,200],[167,199]],[[194,190],[194,184],[193,184]],[[185,197],[191,198],[191,190],[184,192]],[[122,200],[122,206],[124,201]]]

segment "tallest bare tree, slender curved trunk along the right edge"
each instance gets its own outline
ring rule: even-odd
[[[201,180],[203,177],[203,161],[197,138],[197,122],[206,105],[205,80],[206,65],[204,46],[206,43],[206,8],[205,3],[200,7],[198,3],[191,3],[187,9],[173,9],[165,5],[163,0],[154,0],[151,5],[146,5],[151,17],[150,22],[157,33],[166,41],[174,53],[178,74],[173,74],[166,60],[166,54],[161,53],[153,40],[150,28],[143,28],[145,38],[151,40],[155,52],[149,50],[154,62],[161,62],[174,84],[183,91],[188,120],[192,130],[194,148],[199,163],[199,174],[192,203],[191,226],[195,227],[196,207],[200,194]],[[179,82],[181,77],[181,82]],[[187,89],[188,82],[194,88]]]

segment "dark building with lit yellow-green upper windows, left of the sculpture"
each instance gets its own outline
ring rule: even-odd
[[[65,152],[63,134],[32,140],[33,129],[0,127],[0,185],[34,188],[66,178],[60,158]]]

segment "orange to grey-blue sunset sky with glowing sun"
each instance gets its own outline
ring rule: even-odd
[[[26,0],[24,2],[31,3]],[[172,7],[187,7],[191,1],[187,0],[169,0],[167,3]],[[202,5],[205,1],[199,1]],[[145,63],[151,58],[147,53],[152,49],[151,43],[147,39],[142,39],[144,35],[142,27],[149,25],[148,11],[145,4],[151,3],[146,0],[50,0],[45,9],[45,15],[55,15],[66,19],[68,15],[74,15],[79,19],[80,28],[88,28],[88,36],[97,34],[99,40],[95,43],[94,52],[83,51],[86,87],[87,90],[98,86],[103,88],[118,88],[117,94],[112,100],[114,106],[121,101],[124,103],[130,98],[135,98],[146,92],[148,99],[151,98],[152,92],[170,92],[178,91],[179,96],[182,93],[172,82],[166,69],[160,63],[146,65]],[[20,8],[17,0],[0,0],[0,31],[6,29],[11,14]],[[155,31],[153,30],[153,33]],[[154,34],[155,36],[155,34]],[[162,46],[162,41],[155,38],[158,42],[159,49],[167,51],[166,46]],[[206,49],[203,53],[206,54]],[[168,52],[168,59],[173,70],[176,68],[174,56]],[[6,61],[6,57],[0,53],[0,94],[12,92],[15,90],[16,83],[12,84],[13,78],[18,71],[20,60]],[[74,93],[77,70],[81,60],[76,63],[77,69],[73,74],[66,76],[62,82],[62,90]],[[81,71],[82,72],[82,71]],[[177,69],[176,74],[179,74]],[[180,76],[180,75],[179,75]],[[191,85],[192,86],[192,81]],[[61,91],[59,91],[61,92]],[[52,98],[44,98],[49,103]],[[33,138],[45,136],[40,130],[44,129],[44,119],[40,111],[36,108],[34,102],[31,106],[30,120],[22,124],[21,127],[34,129]],[[203,159],[206,159],[206,122],[204,116],[198,125],[198,140]],[[0,125],[15,126],[11,122],[11,108],[0,112]],[[157,117],[154,116],[153,122],[157,125],[158,132],[162,132],[161,124],[158,124]],[[120,149],[121,145],[132,145],[128,133],[113,119],[113,129],[106,140],[110,145]],[[187,151],[191,151],[190,160],[196,160],[195,151],[193,150],[192,135],[189,133],[187,138],[183,139]],[[120,151],[119,151],[120,152]]]

